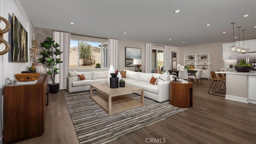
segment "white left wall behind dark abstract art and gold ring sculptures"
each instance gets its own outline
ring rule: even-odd
[[[23,5],[20,4],[18,0],[0,0],[0,15],[10,23],[12,23],[12,13],[18,18],[22,26],[28,32],[28,48],[31,48],[31,40],[34,38],[34,26],[24,10]],[[4,28],[5,24],[0,23],[0,28]],[[11,49],[8,53],[0,56],[0,95],[1,95],[1,110],[0,110],[0,144],[3,143],[3,86],[7,80],[14,78],[14,74],[20,73],[21,71],[26,70],[27,66],[31,65],[30,59],[29,62],[12,62],[12,30],[4,34],[4,40],[8,41]],[[0,45],[0,50],[4,50],[4,46]],[[28,49],[29,52],[29,49]],[[28,53],[30,54],[30,52]],[[30,57],[30,55],[28,55]]]

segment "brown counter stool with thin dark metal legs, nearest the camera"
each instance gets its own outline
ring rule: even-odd
[[[211,90],[214,82],[215,82],[215,84],[212,88],[212,92],[213,93],[218,93],[218,94],[226,94],[226,80],[218,78],[214,71],[210,71],[210,76],[211,76],[213,81],[212,81],[212,85],[210,86],[210,88],[208,90],[208,94],[210,94],[210,90]],[[224,86],[222,86],[222,85],[224,85]],[[218,88],[218,90],[217,90],[217,88]],[[219,96],[217,94],[212,94],[212,95]]]

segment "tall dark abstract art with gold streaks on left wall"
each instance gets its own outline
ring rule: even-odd
[[[12,14],[12,61],[28,62],[28,32]]]

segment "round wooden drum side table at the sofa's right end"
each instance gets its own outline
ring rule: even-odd
[[[179,108],[193,107],[193,82],[170,82],[170,104]]]

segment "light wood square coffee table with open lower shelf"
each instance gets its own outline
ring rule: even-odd
[[[92,88],[102,94],[92,95]],[[134,92],[141,92],[141,102],[126,96]],[[128,84],[123,88],[110,88],[108,83],[91,84],[90,97],[109,115],[144,106],[144,89]]]

